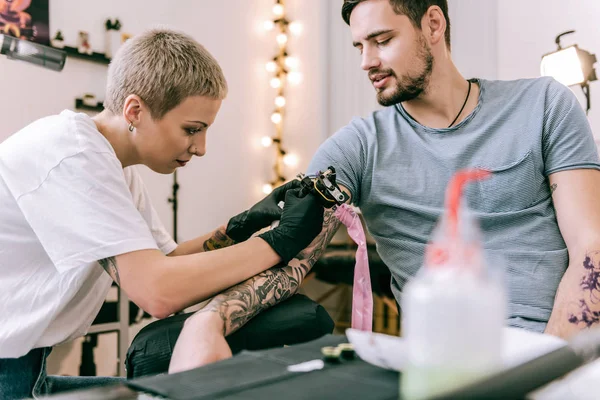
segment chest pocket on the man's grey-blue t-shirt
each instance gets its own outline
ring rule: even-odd
[[[469,206],[475,210],[499,213],[521,211],[535,202],[539,192],[536,179],[535,163],[531,151],[515,161],[507,161],[502,165],[477,165],[487,169],[492,176],[476,183],[471,193]]]

